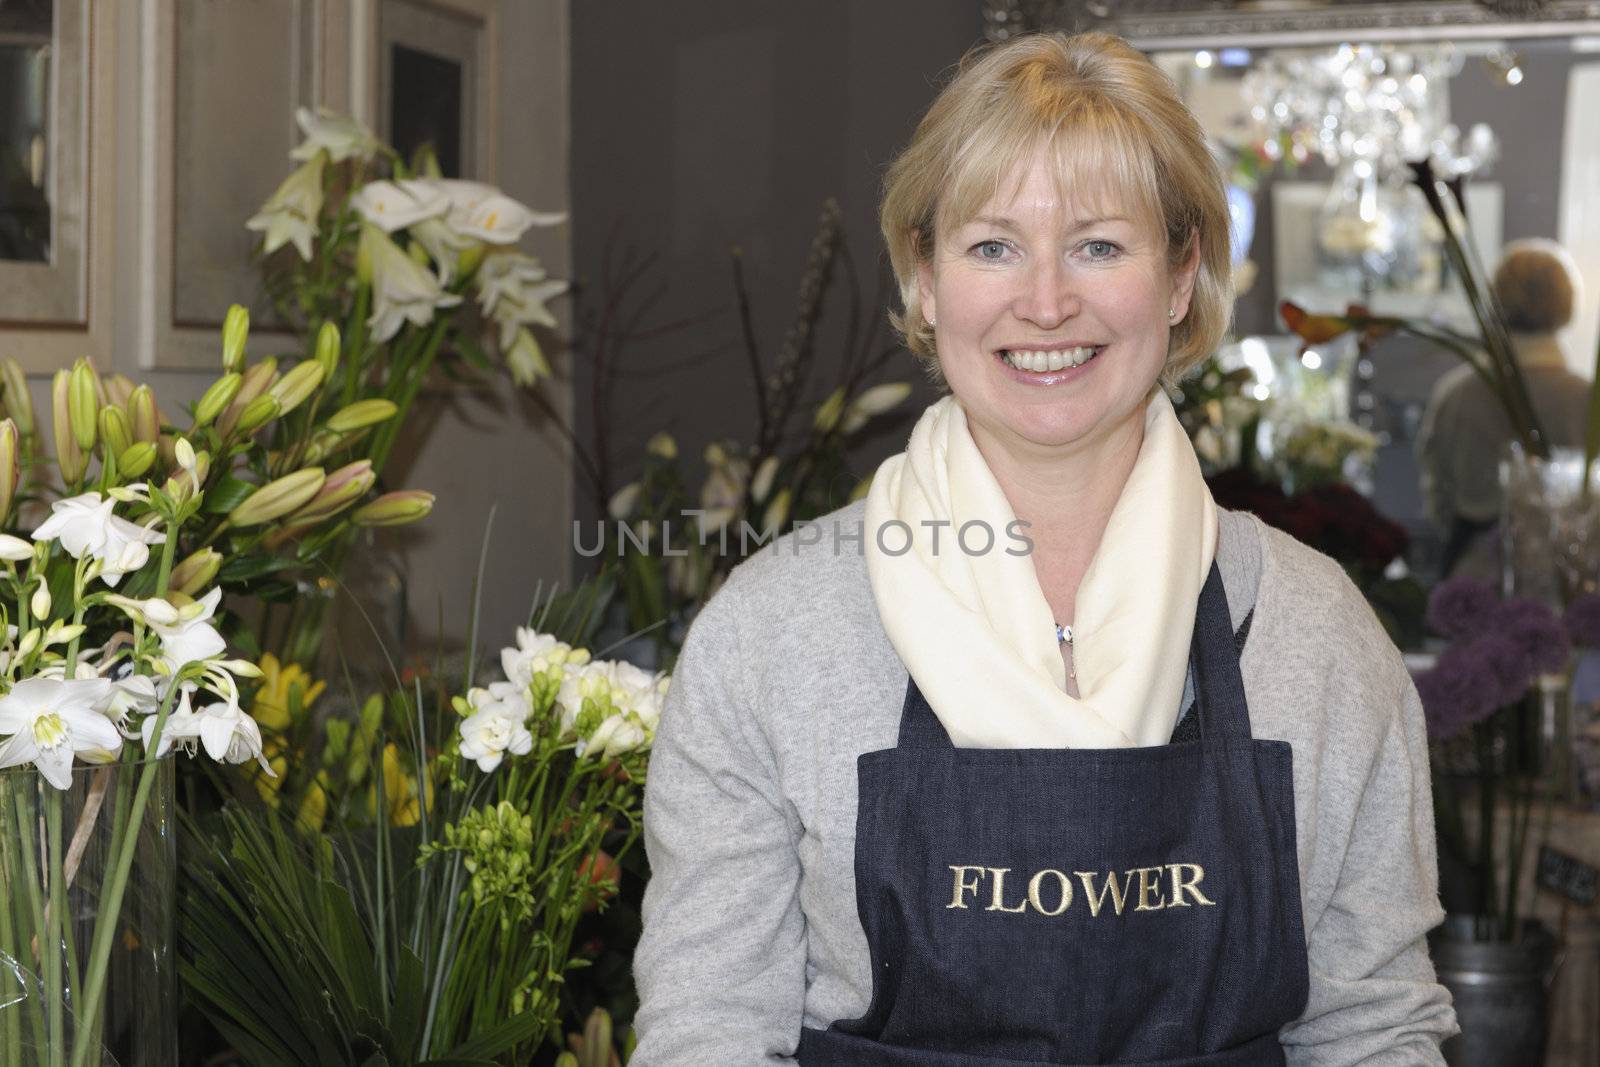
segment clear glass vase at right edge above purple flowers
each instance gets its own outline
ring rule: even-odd
[[[1501,461],[1501,563],[1507,597],[1555,609],[1600,592],[1600,464],[1582,491],[1584,454],[1550,450],[1549,459],[1512,445]]]

